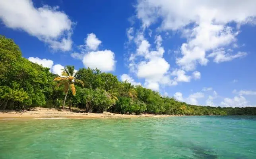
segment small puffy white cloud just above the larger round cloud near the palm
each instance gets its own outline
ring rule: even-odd
[[[85,47],[88,50],[96,51],[101,44],[101,40],[99,40],[95,34],[87,34],[87,38],[85,39],[85,45],[80,45],[80,47]]]

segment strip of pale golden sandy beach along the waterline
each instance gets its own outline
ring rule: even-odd
[[[65,117],[65,118],[116,118],[116,117],[168,117],[173,115],[154,115],[154,114],[114,114],[109,112],[104,112],[103,114],[97,113],[80,113],[80,112],[71,112],[70,110],[64,109],[59,111],[58,109],[52,108],[41,108],[35,107],[31,108],[30,111],[9,111],[9,112],[0,112],[0,119],[6,118],[48,118],[48,117]]]

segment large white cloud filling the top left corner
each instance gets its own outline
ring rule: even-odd
[[[0,19],[9,28],[21,29],[54,50],[72,47],[72,21],[58,6],[35,8],[31,0],[1,0]]]

